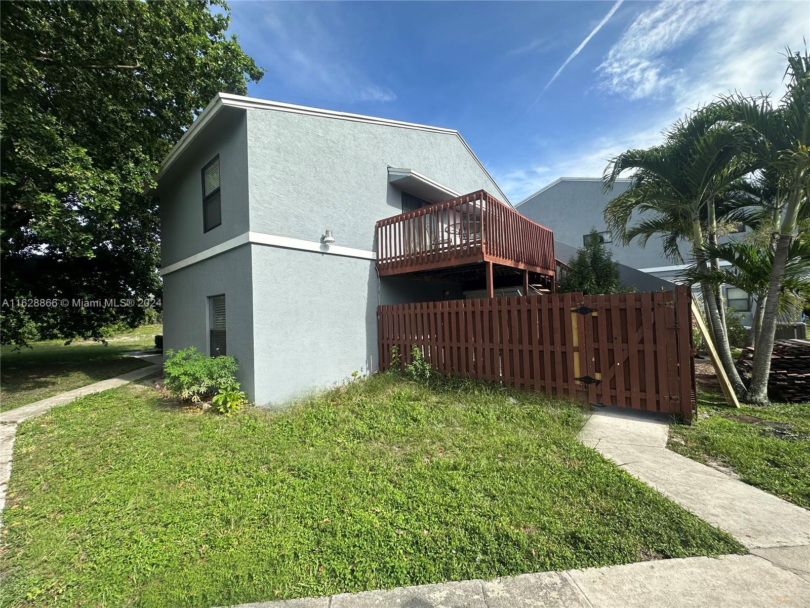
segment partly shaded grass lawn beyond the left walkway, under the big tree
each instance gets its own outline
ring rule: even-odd
[[[143,325],[108,338],[107,346],[93,341],[66,346],[64,340],[35,342],[31,349],[18,351],[2,346],[0,412],[147,366],[148,362],[123,353],[154,349],[160,333],[160,325]]]

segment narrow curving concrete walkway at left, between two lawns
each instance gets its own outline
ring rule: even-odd
[[[23,420],[45,413],[57,405],[70,403],[85,395],[94,392],[106,391],[109,388],[120,387],[122,384],[133,382],[154,374],[162,369],[160,365],[148,365],[138,370],[128,371],[126,374],[87,384],[85,387],[75,388],[72,391],[62,392],[59,395],[34,401],[22,407],[0,412],[0,525],[2,525],[2,509],[6,506],[6,488],[11,477],[11,456],[14,451],[14,437],[17,425]]]

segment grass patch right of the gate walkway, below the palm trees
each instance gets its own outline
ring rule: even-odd
[[[810,508],[810,403],[732,409],[722,396],[701,392],[697,413],[692,426],[670,427],[671,450]]]

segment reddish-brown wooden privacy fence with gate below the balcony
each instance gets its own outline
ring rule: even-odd
[[[416,345],[445,374],[676,414],[695,408],[689,289],[553,293],[377,309],[380,369]]]

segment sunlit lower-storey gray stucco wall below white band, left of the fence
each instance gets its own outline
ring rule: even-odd
[[[376,371],[377,293],[382,304],[462,297],[452,284],[380,281],[367,259],[252,249],[258,405],[279,405],[366,371],[369,355]]]

